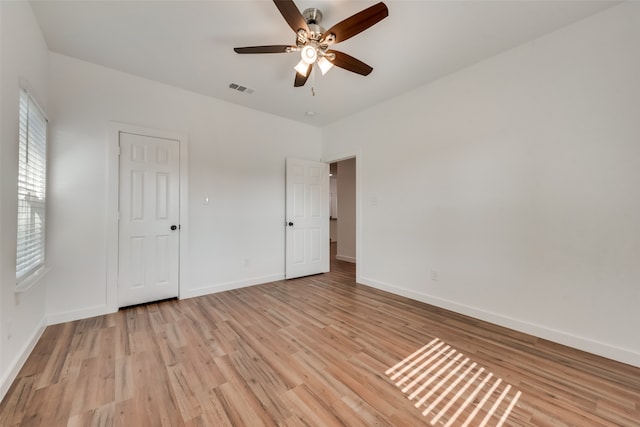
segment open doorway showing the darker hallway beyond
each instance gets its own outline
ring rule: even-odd
[[[330,164],[331,252],[339,261],[356,263],[356,159]]]

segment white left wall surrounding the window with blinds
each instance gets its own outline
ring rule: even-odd
[[[28,89],[47,110],[49,54],[28,2],[0,1],[0,398],[44,325],[48,277],[16,294],[18,102]]]

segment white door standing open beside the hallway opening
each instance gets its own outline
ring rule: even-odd
[[[329,271],[329,165],[287,159],[287,279]]]

